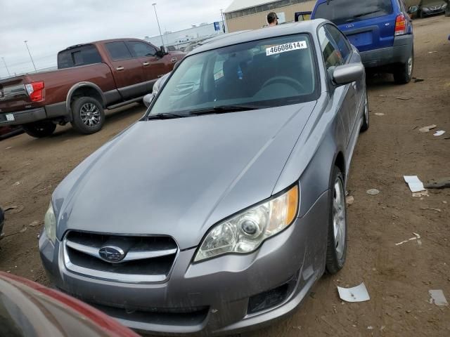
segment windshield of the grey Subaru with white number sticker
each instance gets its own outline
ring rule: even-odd
[[[297,34],[188,56],[162,88],[150,115],[315,100],[313,55],[309,36]]]

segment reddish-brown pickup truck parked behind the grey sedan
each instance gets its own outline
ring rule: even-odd
[[[104,109],[140,102],[184,55],[139,39],[69,47],[58,53],[58,70],[0,81],[0,126],[21,125],[36,138],[68,122],[79,133],[95,133]]]

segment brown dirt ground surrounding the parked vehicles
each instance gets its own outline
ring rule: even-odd
[[[450,189],[413,198],[402,178],[450,176],[450,18],[414,24],[414,76],[424,81],[397,86],[387,75],[368,79],[371,128],[359,138],[349,177],[354,204],[348,210],[347,264],[338,275],[323,277],[295,315],[242,337],[450,336],[450,308],[430,304],[428,294],[442,289],[450,300]],[[37,234],[51,193],[143,112],[138,105],[109,112],[105,128],[91,136],[58,126],[50,138],[24,134],[0,142],[0,205],[16,207],[6,212],[0,270],[48,284]],[[431,124],[447,133],[418,131]],[[366,194],[372,188],[380,194]],[[420,241],[396,245],[413,233]],[[361,282],[371,300],[343,303],[336,286]]]

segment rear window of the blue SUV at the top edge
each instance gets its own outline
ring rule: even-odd
[[[392,0],[330,0],[316,8],[314,18],[328,19],[335,25],[378,18],[394,11]]]

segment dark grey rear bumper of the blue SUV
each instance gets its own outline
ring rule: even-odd
[[[360,55],[364,67],[405,64],[413,51],[413,39],[412,34],[400,35],[394,38],[392,47],[362,51]]]

